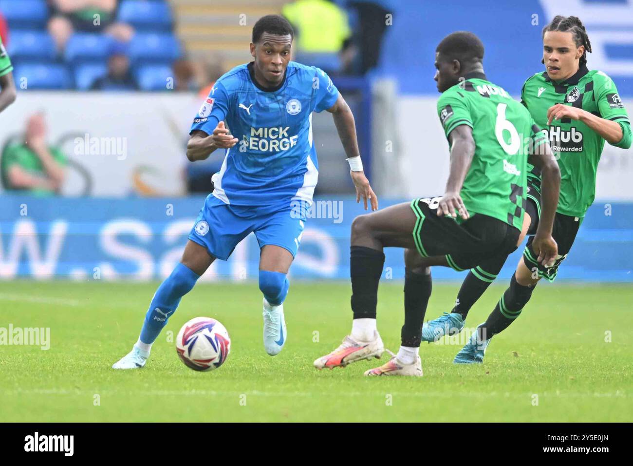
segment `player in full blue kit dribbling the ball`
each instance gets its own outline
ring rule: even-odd
[[[296,256],[306,209],[318,178],[312,112],[327,110],[341,138],[365,209],[378,201],[363,173],[354,115],[330,78],[316,67],[290,61],[294,32],[283,16],[263,16],[253,27],[254,61],[218,79],[191,127],[187,158],[204,160],[225,149],[214,190],[189,233],[180,263],[149,304],[141,335],[115,369],[145,365],[151,346],[180,299],[215,259],[226,261],[251,231],[260,245],[266,353],[274,356],[287,339],[286,277]],[[297,207],[300,206],[298,209]]]

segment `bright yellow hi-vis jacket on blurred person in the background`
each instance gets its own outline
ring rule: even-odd
[[[282,15],[292,24],[299,53],[339,53],[351,36],[348,16],[329,0],[296,0]]]

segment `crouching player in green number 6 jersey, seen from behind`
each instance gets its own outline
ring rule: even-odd
[[[351,231],[351,334],[316,368],[379,358],[377,294],[385,247],[404,248],[404,325],[398,354],[365,375],[421,376],[422,323],[431,294],[431,266],[467,269],[517,249],[523,228],[527,159],[542,169],[542,219],[532,246],[539,263],[557,254],[551,236],[560,172],[548,139],[520,103],[488,81],[484,46],[454,32],[436,49],[437,113],[450,148],[442,197],[418,198],[356,217]],[[440,157],[424,154],[424,157]]]

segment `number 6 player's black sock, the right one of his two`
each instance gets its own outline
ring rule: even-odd
[[[422,340],[422,324],[431,295],[431,275],[404,269],[404,325],[400,333],[402,346],[418,347]]]

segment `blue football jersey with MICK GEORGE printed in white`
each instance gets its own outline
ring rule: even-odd
[[[223,120],[239,139],[213,175],[213,195],[234,205],[311,203],[318,178],[312,112],[332,107],[338,95],[323,70],[294,61],[275,89],[255,81],[253,63],[220,77],[191,126],[212,134]]]

